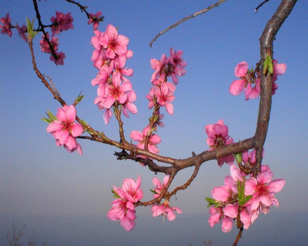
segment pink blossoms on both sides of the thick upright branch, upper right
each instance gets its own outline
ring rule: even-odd
[[[282,75],[286,72],[286,64],[277,63],[277,60],[273,60],[273,74],[272,74],[272,95],[276,93],[278,85],[275,83],[277,76]],[[237,96],[244,91],[245,100],[256,98],[260,95],[260,72],[259,70],[254,71],[248,69],[247,62],[240,62],[234,69],[235,76],[240,78],[234,80],[230,87],[229,92]]]

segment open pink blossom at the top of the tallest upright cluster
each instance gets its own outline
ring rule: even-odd
[[[119,35],[114,26],[108,25],[99,35],[99,44],[106,49],[106,57],[113,59],[116,55],[126,55],[129,39]]]

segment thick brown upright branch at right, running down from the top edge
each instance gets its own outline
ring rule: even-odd
[[[264,62],[266,55],[273,57],[273,41],[282,26],[282,23],[291,13],[297,0],[282,0],[278,9],[267,22],[260,38],[260,56],[261,62]],[[263,66],[261,67],[263,71]],[[253,176],[261,171],[262,148],[265,142],[268,124],[270,120],[270,109],[272,104],[272,76],[269,73],[265,75],[261,73],[261,93],[260,105],[257,119],[257,129],[255,133],[256,139],[256,165],[253,169]]]

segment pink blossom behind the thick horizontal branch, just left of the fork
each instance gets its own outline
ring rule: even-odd
[[[206,143],[212,149],[224,147],[233,143],[233,138],[228,135],[228,126],[224,125],[223,120],[219,120],[217,123],[205,126],[205,132],[209,136],[206,139]],[[232,165],[234,162],[233,155],[228,155],[217,160],[218,165],[221,167],[224,163]]]

